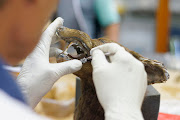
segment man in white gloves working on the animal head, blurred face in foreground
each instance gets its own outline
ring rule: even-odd
[[[63,75],[81,69],[79,60],[49,63],[61,50],[50,49],[56,30],[63,25],[57,18],[42,32],[56,10],[58,0],[0,0],[0,119],[46,120],[31,108]],[[113,54],[110,62],[104,53]],[[142,120],[141,105],[147,87],[143,64],[116,43],[91,50],[93,81],[106,120]],[[14,80],[4,69],[26,58]],[[31,108],[30,108],[31,107]]]

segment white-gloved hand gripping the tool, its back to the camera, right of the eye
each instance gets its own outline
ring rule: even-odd
[[[104,53],[112,54],[107,61]],[[116,43],[91,50],[93,81],[106,120],[142,120],[147,87],[144,65]]]

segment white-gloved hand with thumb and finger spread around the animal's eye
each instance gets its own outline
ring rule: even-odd
[[[28,103],[34,108],[42,97],[52,88],[53,84],[63,75],[78,71],[82,63],[71,60],[63,63],[49,63],[51,42],[63,19],[57,18],[42,34],[41,40],[34,51],[26,58],[17,82]],[[58,52],[51,49],[51,55]]]

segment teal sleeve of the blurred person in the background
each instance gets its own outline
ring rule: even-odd
[[[101,26],[106,27],[120,22],[120,15],[113,0],[95,0],[94,3],[95,12]]]

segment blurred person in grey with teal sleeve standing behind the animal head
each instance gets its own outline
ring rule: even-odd
[[[61,0],[56,16],[64,26],[86,32],[91,38],[119,38],[120,16],[113,0]]]

